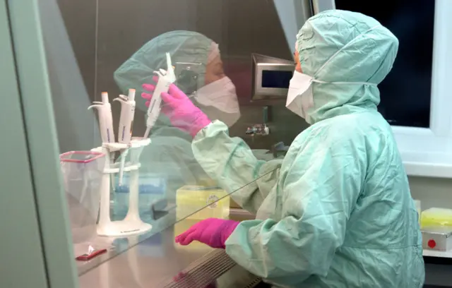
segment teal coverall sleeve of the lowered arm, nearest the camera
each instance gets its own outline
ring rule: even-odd
[[[281,171],[276,205],[282,218],[241,222],[226,241],[239,265],[283,286],[326,277],[366,171],[352,140],[305,138],[292,143],[286,155],[292,164]]]

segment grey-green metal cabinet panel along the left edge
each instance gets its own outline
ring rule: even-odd
[[[37,1],[0,6],[0,286],[77,287]]]

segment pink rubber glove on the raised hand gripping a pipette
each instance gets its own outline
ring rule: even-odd
[[[154,76],[153,80],[158,81],[157,76]],[[143,84],[143,89],[149,92],[155,90],[155,85]],[[146,106],[149,107],[151,94],[142,93],[146,101]],[[182,131],[188,132],[192,137],[204,127],[211,123],[210,119],[204,114],[201,109],[196,107],[190,100],[189,97],[185,95],[176,85],[169,85],[169,90],[167,93],[162,92],[161,94],[163,102],[162,112],[165,114],[171,124],[174,127],[179,128]]]

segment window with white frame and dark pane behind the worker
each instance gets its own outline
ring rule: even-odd
[[[330,2],[376,18],[398,37],[393,71],[379,85],[379,110],[409,175],[452,178],[452,1]]]

